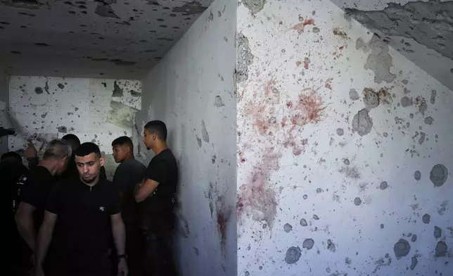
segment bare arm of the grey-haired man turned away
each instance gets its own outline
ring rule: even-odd
[[[34,251],[36,246],[36,230],[34,229],[33,218],[35,210],[36,208],[31,204],[20,202],[18,211],[15,213],[15,223],[20,237],[25,240],[32,251]]]

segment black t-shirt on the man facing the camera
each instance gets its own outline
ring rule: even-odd
[[[108,251],[110,215],[120,213],[119,191],[102,177],[92,187],[78,178],[65,180],[51,190],[46,211],[58,214],[54,258],[66,268],[96,266]]]

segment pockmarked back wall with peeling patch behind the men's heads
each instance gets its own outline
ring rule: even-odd
[[[141,106],[141,82],[60,77],[11,76],[9,111],[17,135],[9,149],[22,152],[32,140],[42,153],[51,139],[73,133],[98,144],[113,176],[113,139],[132,136],[134,113]]]

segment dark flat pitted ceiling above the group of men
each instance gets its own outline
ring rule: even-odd
[[[141,79],[213,0],[0,0],[10,75]]]

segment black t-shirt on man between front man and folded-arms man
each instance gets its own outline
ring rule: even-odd
[[[146,167],[134,158],[123,161],[115,170],[113,184],[122,192],[121,215],[125,222],[126,230],[138,227],[138,204],[134,197],[134,187],[143,181]]]

